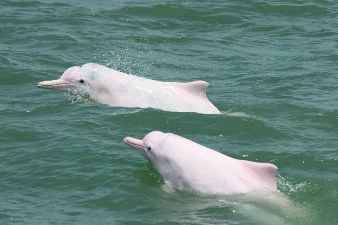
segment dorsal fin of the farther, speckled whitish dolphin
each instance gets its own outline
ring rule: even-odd
[[[190,94],[197,95],[200,97],[207,97],[206,91],[209,86],[208,82],[205,81],[193,81],[189,83],[176,83],[169,82],[171,86],[182,89]]]

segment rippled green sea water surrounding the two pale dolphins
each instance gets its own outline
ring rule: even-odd
[[[338,224],[337,21],[334,0],[0,0],[0,224]],[[207,81],[222,114],[37,88],[89,62]],[[154,130],[273,163],[280,194],[170,190],[123,143]]]

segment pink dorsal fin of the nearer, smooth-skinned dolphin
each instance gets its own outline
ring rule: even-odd
[[[255,173],[262,181],[271,189],[276,189],[276,172],[277,167],[271,163],[257,163],[247,160],[241,160],[243,164],[248,167],[252,173]]]

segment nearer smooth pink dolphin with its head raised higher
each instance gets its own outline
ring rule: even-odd
[[[143,140],[126,137],[173,188],[202,193],[246,193],[277,190],[277,167],[238,160],[171,133],[153,131]]]

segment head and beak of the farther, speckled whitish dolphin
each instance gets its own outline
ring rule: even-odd
[[[39,88],[55,89],[73,93],[75,91],[89,92],[96,79],[98,65],[87,63],[81,66],[68,68],[58,80],[41,81]]]

